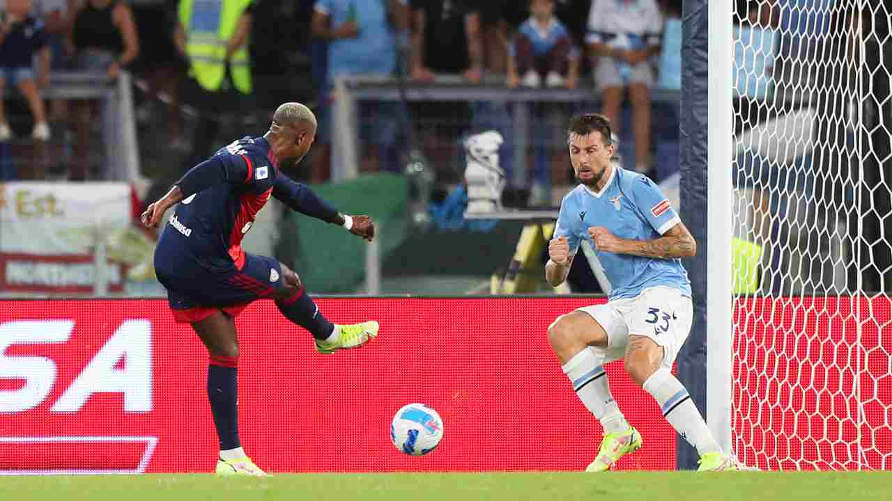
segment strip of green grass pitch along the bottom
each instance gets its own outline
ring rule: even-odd
[[[0,500],[387,501],[604,500],[842,501],[892,499],[889,472],[567,472],[202,474],[0,477]]]

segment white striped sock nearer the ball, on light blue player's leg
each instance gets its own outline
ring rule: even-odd
[[[576,396],[598,418],[605,434],[626,431],[629,423],[610,394],[603,364],[603,348],[586,348],[571,358],[563,369],[570,382],[573,382]]]

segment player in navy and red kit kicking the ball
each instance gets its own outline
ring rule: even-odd
[[[208,349],[208,398],[219,436],[217,473],[265,475],[245,455],[238,437],[235,316],[254,300],[276,301],[279,311],[312,333],[320,353],[359,348],[378,333],[377,322],[329,322],[304,293],[300,277],[276,259],[241,247],[242,237],[270,196],[293,210],[344,226],[368,241],[368,216],[348,216],[319,199],[306,185],[279,171],[296,164],[316,136],[316,117],[300,103],[285,103],[264,136],[245,136],[221,148],[149,205],[145,226],[157,227],[179,204],[155,248],[155,273],[168,290],[174,319],[192,324]]]

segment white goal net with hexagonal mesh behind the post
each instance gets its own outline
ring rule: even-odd
[[[887,5],[734,12],[731,443],[763,469],[892,468]]]

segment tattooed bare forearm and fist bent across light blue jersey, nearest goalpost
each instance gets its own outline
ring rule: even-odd
[[[697,254],[697,242],[684,223],[666,230],[654,240],[628,240],[611,234],[603,226],[589,228],[591,239],[598,250],[615,254],[631,254],[652,259],[692,258]]]

